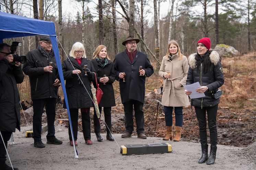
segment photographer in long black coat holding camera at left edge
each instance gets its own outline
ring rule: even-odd
[[[24,74],[20,62],[10,64],[13,62],[10,47],[0,43],[0,170],[12,170],[12,167],[5,164],[5,147],[7,148],[7,142],[15,128],[20,131],[20,95],[17,83],[23,82]]]

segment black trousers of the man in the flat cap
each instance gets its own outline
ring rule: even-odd
[[[46,109],[47,126],[48,126],[48,134],[46,135],[46,138],[51,139],[51,138],[55,137],[54,120],[55,120],[56,98],[38,99],[38,100],[33,100],[33,109],[34,109],[33,138],[34,138],[34,141],[41,140],[42,114],[43,114],[44,106]]]

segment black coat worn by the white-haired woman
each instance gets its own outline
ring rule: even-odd
[[[93,107],[93,103],[91,97],[89,96],[88,92],[84,88],[83,84],[80,82],[77,74],[72,74],[74,68],[77,70],[81,70],[81,74],[79,75],[81,80],[84,83],[85,88],[89,92],[90,96],[92,97],[92,90],[91,90],[91,81],[95,80],[94,75],[91,74],[90,76],[85,76],[85,72],[83,70],[83,66],[87,65],[91,71],[95,72],[95,69],[90,60],[87,58],[82,58],[81,65],[77,63],[77,61],[73,57],[68,57],[67,60],[62,62],[62,71],[64,80],[66,80],[66,92],[68,98],[68,105],[69,108],[86,108],[86,107]],[[64,108],[67,108],[66,103],[64,101],[63,104]]]

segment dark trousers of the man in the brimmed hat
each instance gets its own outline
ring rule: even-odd
[[[143,103],[137,100],[130,100],[124,103],[125,112],[125,132],[133,132],[133,107],[135,112],[135,120],[137,133],[144,133],[144,112]]]

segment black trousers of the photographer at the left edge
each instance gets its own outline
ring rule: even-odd
[[[4,148],[3,142],[4,142],[4,144],[7,148],[7,144],[8,144],[8,141],[10,140],[10,138],[11,138],[12,132],[1,131],[1,134],[3,136],[3,141],[2,141],[2,138],[0,136],[0,166],[2,166],[2,164],[6,160],[6,150]]]

